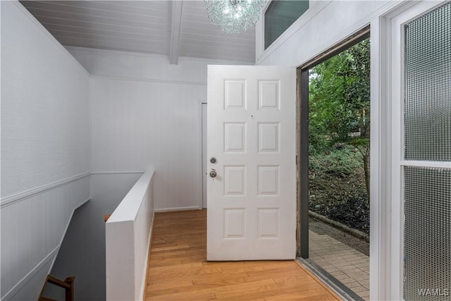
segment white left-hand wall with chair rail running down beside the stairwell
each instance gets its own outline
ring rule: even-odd
[[[1,1],[1,299],[36,300],[89,199],[89,77],[18,1]]]

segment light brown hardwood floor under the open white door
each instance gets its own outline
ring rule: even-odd
[[[206,262],[206,210],[156,214],[145,300],[340,300],[293,261]]]

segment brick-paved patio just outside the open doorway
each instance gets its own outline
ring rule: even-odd
[[[329,274],[369,300],[369,257],[344,243],[309,231],[309,258]]]

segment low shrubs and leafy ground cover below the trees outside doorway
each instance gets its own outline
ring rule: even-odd
[[[340,144],[309,156],[309,209],[360,231],[369,231],[362,154]]]

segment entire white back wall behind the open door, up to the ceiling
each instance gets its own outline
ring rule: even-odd
[[[157,211],[202,206],[200,103],[207,64],[224,62],[69,50],[92,74],[92,172],[152,166]]]

